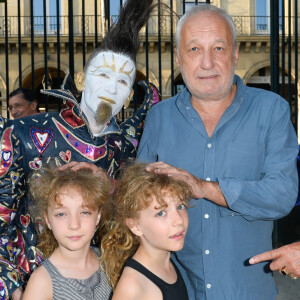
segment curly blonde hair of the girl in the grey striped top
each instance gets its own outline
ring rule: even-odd
[[[44,258],[49,257],[58,243],[45,221],[48,206],[59,202],[59,194],[64,187],[74,187],[81,194],[85,204],[92,210],[101,210],[109,198],[110,182],[95,176],[90,169],[79,171],[41,168],[31,174],[28,180],[29,192],[33,199],[31,215],[38,226],[38,248]],[[41,230],[39,230],[41,228]]]

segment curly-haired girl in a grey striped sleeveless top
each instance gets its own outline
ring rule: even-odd
[[[90,169],[40,169],[29,189],[46,260],[32,273],[22,299],[110,299],[100,251],[90,246],[109,197],[108,179]]]

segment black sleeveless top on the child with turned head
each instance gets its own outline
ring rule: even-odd
[[[130,267],[146,276],[149,280],[151,280],[161,290],[163,300],[188,300],[189,297],[187,289],[184,280],[180,274],[180,271],[178,270],[178,268],[172,260],[171,262],[177,274],[177,281],[173,284],[169,284],[163,281],[133,258],[129,258],[127,260],[127,262],[125,263],[125,267]]]

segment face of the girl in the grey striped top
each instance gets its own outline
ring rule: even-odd
[[[57,202],[51,201],[45,220],[59,247],[71,251],[89,248],[101,213],[87,207],[73,186],[61,188]]]

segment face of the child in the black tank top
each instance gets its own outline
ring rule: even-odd
[[[150,206],[142,210],[138,219],[127,222],[140,245],[147,249],[178,251],[184,245],[188,228],[188,214],[182,201],[174,194],[164,198],[166,206],[153,199]]]

